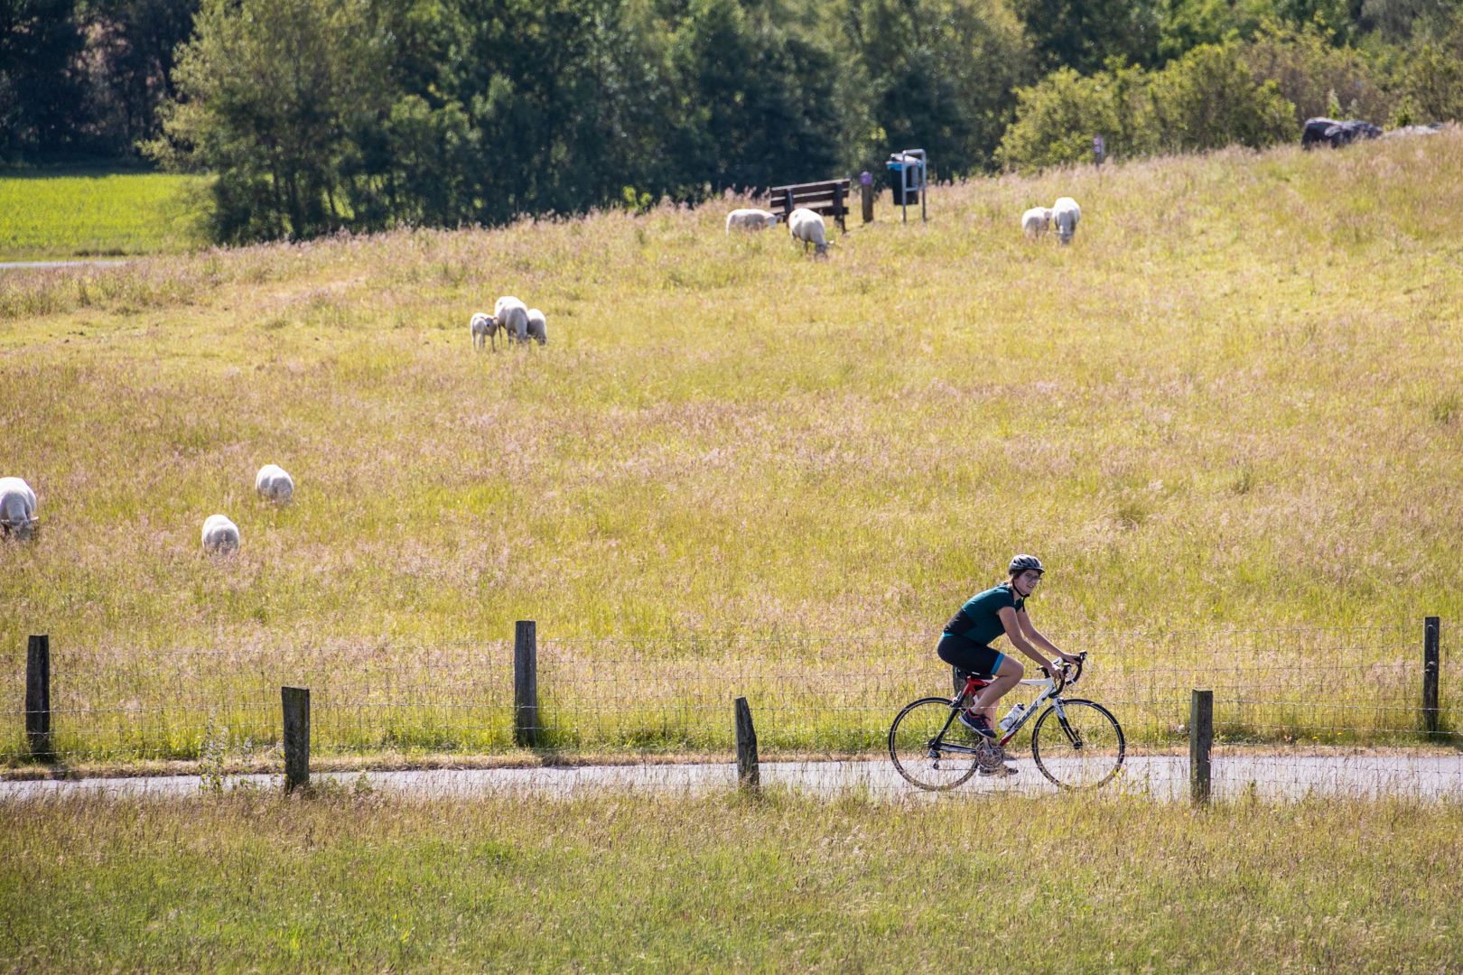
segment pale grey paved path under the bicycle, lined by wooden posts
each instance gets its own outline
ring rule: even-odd
[[[976,776],[949,795],[979,795],[993,791],[1055,794],[1030,757],[1017,759],[1020,773],[1005,779]],[[888,762],[770,762],[762,784],[815,794],[860,792],[879,800],[923,798],[898,776]],[[736,782],[732,763],[707,765],[617,765],[537,769],[433,769],[421,772],[332,772],[332,779],[350,786],[364,775],[373,789],[418,795],[483,795],[534,792],[572,797],[588,791],[695,794],[730,788]],[[259,788],[279,785],[279,776],[230,776],[230,784],[249,782]],[[1178,800],[1188,795],[1188,759],[1132,756],[1121,779],[1105,791]],[[0,803],[85,794],[183,797],[199,791],[198,776],[154,776],[126,779],[61,779],[0,782]],[[1463,756],[1242,756],[1216,759],[1213,792],[1236,798],[1254,792],[1261,798],[1318,795],[1407,795],[1418,798],[1463,798]]]

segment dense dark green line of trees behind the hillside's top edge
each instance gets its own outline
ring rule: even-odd
[[[0,159],[212,172],[217,240],[1457,118],[1459,0],[6,0]]]

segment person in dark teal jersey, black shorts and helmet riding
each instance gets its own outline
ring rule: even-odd
[[[973,674],[990,675],[993,680],[980,691],[970,709],[960,712],[960,722],[986,738],[996,740],[996,702],[1015,687],[1026,675],[1021,661],[1007,656],[990,646],[992,640],[1005,634],[1015,649],[1045,667],[1055,678],[1061,671],[1055,661],[1042,656],[1042,650],[1075,664],[1078,658],[1064,653],[1037,633],[1026,614],[1026,599],[1042,582],[1042,560],[1036,555],[1017,555],[1008,566],[1011,577],[985,592],[971,596],[960,612],[945,624],[935,652],[939,659]]]

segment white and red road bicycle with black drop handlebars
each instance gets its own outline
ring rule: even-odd
[[[1118,775],[1124,759],[1122,726],[1106,707],[1062,691],[1083,675],[1087,653],[1077,664],[1061,665],[1061,683],[1043,667],[1043,680],[1023,680],[1042,691],[1030,707],[1012,705],[1001,719],[998,741],[990,741],[960,721],[961,702],[990,684],[966,671],[964,688],[954,697],[920,697],[904,706],[890,726],[890,757],[906,779],[922,789],[941,792],[969,781],[977,770],[1001,772],[1005,744],[1040,712],[1031,728],[1031,757],[1048,779],[1065,789],[1094,789]],[[1075,667],[1075,669],[1074,669]],[[1042,706],[1046,709],[1042,710]]]

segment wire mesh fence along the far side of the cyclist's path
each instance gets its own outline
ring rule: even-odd
[[[1387,767],[1404,778],[1463,782],[1457,715],[1448,706],[1463,690],[1463,672],[1447,653],[1457,627],[1444,626],[1441,634],[1432,732],[1422,712],[1418,624],[1053,637],[1088,653],[1087,672],[1069,694],[1102,702],[1119,718],[1124,776],[1137,784],[1146,775],[1151,791],[1162,791],[1154,782],[1182,779],[1157,769],[1186,756],[1191,688],[1213,688],[1216,754],[1223,759],[1216,760],[1216,788],[1225,791],[1249,782],[1239,756],[1267,759],[1261,778],[1289,776],[1296,788],[1318,788],[1321,769],[1339,763],[1353,770],[1366,765],[1369,782],[1396,779],[1383,775]],[[312,693],[310,750],[322,757],[729,762],[732,700],[742,696],[764,760],[840,759],[872,767],[884,759],[890,724],[904,703],[952,693],[949,668],[932,648],[923,634],[540,639],[537,722],[525,751],[512,640],[159,652],[57,646],[48,747],[78,765],[219,756],[268,763],[281,743],[279,688],[300,686]],[[32,760],[26,658],[9,655],[0,667],[0,760],[18,766]],[[1021,688],[1002,706],[1033,696],[1034,688]],[[1014,756],[1028,748],[1028,729],[1008,744]],[[1418,765],[1429,756],[1437,762]],[[802,775],[816,779],[811,770]]]

